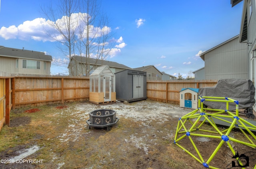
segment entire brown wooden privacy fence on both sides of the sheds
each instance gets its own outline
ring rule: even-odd
[[[89,99],[89,77],[19,76],[0,77],[0,130],[9,125],[10,110],[26,106],[85,101]],[[147,81],[147,97],[179,104],[182,88],[215,86],[217,81]]]

